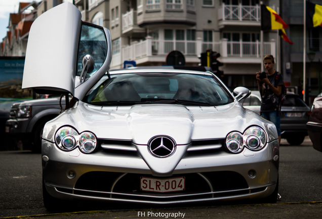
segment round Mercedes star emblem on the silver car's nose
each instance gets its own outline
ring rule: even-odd
[[[173,139],[167,136],[157,136],[150,139],[148,145],[149,151],[155,157],[169,157],[176,150],[176,144]]]

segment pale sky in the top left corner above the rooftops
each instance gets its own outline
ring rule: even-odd
[[[0,0],[0,42],[5,38],[10,13],[17,13],[19,8],[19,2],[32,2],[32,0]],[[41,2],[36,0],[35,2]]]

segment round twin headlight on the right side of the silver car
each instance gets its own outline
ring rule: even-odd
[[[266,142],[265,131],[258,126],[252,126],[244,134],[236,131],[229,133],[226,137],[226,148],[234,154],[242,152],[244,147],[259,151],[265,147]]]

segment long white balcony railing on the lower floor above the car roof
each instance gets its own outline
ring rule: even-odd
[[[228,42],[226,39],[223,39],[220,42],[205,43],[201,40],[165,41],[153,40],[148,37],[144,41],[134,42],[132,45],[122,48],[122,60],[138,60],[142,57],[158,55],[165,56],[173,50],[180,51],[185,56],[198,56],[207,49],[220,52],[223,58],[260,58],[260,48],[260,42]],[[263,43],[263,54],[272,54],[275,56],[275,52],[274,41]]]

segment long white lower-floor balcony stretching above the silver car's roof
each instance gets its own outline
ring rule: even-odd
[[[263,54],[276,56],[275,42],[263,43]],[[221,53],[220,61],[224,63],[260,64],[260,42],[220,42],[205,43],[202,39],[196,41],[165,41],[153,40],[149,36],[144,41],[134,42],[122,48],[122,57],[113,56],[111,68],[121,65],[125,60],[135,60],[137,64],[146,62],[164,62],[165,57],[173,50],[178,50],[186,58],[186,62],[199,63],[198,56],[207,49]],[[119,63],[118,63],[119,62]]]

